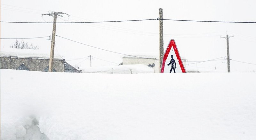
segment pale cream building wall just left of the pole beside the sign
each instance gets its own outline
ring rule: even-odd
[[[145,58],[123,58],[123,65],[132,65],[132,64],[144,64],[148,66],[149,64],[155,64],[154,73],[158,73],[158,60],[145,59]]]

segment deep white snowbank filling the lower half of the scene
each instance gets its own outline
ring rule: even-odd
[[[1,69],[1,140],[255,140],[255,73]]]

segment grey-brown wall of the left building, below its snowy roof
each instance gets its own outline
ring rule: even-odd
[[[49,67],[49,59],[1,57],[1,69],[18,69],[22,64],[30,71],[45,71]],[[64,72],[64,60],[54,60],[53,69]]]

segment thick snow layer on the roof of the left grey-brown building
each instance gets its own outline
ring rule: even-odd
[[[17,58],[38,58],[38,59],[49,59],[50,51],[45,52],[40,49],[13,49],[13,48],[1,48],[1,57],[17,57]],[[54,59],[62,60],[63,56],[54,53]]]

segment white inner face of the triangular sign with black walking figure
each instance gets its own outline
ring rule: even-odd
[[[182,73],[179,60],[177,59],[173,47],[171,48],[171,51],[165,61],[164,73]]]

